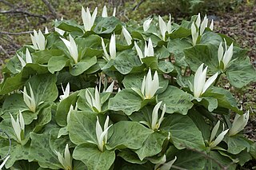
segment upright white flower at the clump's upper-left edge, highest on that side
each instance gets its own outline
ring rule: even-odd
[[[34,46],[34,49],[44,50],[46,49],[46,38],[42,34],[41,30],[37,31],[34,30],[34,36],[30,34],[32,44]]]

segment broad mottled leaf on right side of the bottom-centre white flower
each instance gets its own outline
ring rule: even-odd
[[[108,140],[107,149],[114,148],[141,148],[153,130],[134,121],[119,121],[113,125],[114,133]]]

